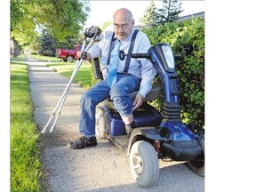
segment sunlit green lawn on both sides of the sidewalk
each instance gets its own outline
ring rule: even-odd
[[[32,55],[34,57],[34,55]],[[58,62],[56,58],[34,57],[45,60],[49,68],[70,77],[76,62]],[[55,59],[55,60],[54,60]],[[12,62],[18,60],[19,62]],[[44,191],[43,170],[40,160],[39,132],[34,118],[33,102],[29,93],[29,78],[24,55],[11,57],[11,190],[12,191]],[[51,61],[53,60],[53,61]],[[92,74],[92,63],[84,62],[74,79],[84,89],[95,84]]]

